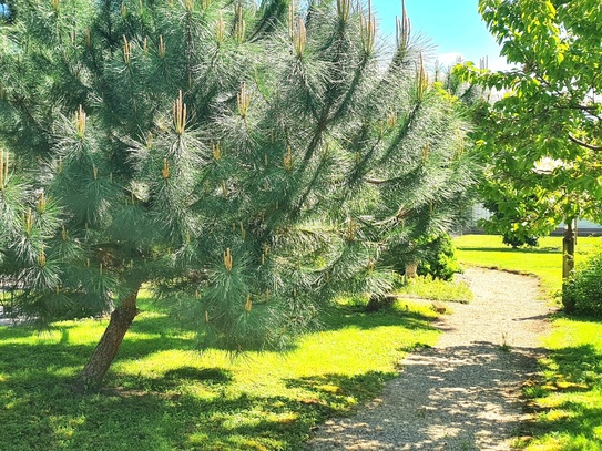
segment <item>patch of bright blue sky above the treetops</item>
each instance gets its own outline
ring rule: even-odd
[[[420,33],[436,45],[436,53],[445,63],[452,63],[452,54],[479,63],[489,57],[489,69],[503,69],[499,47],[489,34],[477,11],[478,0],[406,0],[406,11],[414,33]],[[395,17],[401,16],[401,0],[373,0],[373,9],[384,34],[395,37]],[[450,60],[450,61],[446,61]]]

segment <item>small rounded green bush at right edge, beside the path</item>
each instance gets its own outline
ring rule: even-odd
[[[602,254],[591,256],[562,286],[567,311],[602,316]]]

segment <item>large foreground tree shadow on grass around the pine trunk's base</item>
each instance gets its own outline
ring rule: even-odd
[[[57,367],[74,363],[67,357]],[[167,371],[162,386],[142,383],[155,390],[116,387],[79,394],[70,391],[71,377],[49,371],[47,363],[38,361],[0,383],[0,450],[295,450],[316,422],[348,403],[314,388],[317,379],[290,382],[304,397],[228,393],[227,370],[186,366]],[[364,396],[368,377],[375,376],[327,379],[347,399]]]

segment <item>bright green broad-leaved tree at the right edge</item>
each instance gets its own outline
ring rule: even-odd
[[[517,64],[458,69],[466,80],[508,90],[479,129],[494,181],[489,194],[502,199],[496,219],[523,237],[563,219],[567,276],[574,221],[602,221],[602,10],[589,0],[480,0],[479,11]]]

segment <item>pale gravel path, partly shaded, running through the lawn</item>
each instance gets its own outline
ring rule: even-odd
[[[408,356],[381,398],[320,427],[309,450],[511,449],[549,309],[534,278],[477,268],[465,277],[476,299],[438,320],[438,345]]]

